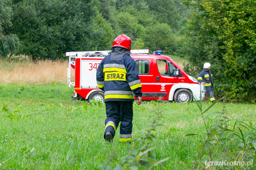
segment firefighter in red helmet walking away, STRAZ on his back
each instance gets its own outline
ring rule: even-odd
[[[120,142],[130,143],[133,101],[141,104],[141,82],[138,66],[130,56],[131,39],[122,34],[115,38],[112,51],[99,64],[97,85],[104,91],[106,120],[104,139],[113,142],[120,123]]]

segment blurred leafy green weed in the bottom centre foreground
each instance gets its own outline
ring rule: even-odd
[[[137,169],[142,170],[143,167],[147,169],[152,169],[154,166],[167,161],[169,158],[164,158],[157,161],[154,156],[154,148],[152,147],[153,142],[158,142],[155,135],[152,134],[156,131],[158,126],[163,124],[157,124],[161,117],[160,110],[155,112],[156,116],[152,118],[150,124],[148,124],[147,129],[141,132],[142,136],[139,140],[133,142],[134,147],[129,151],[129,153],[122,158],[118,158],[117,155],[109,155],[109,162],[106,164],[101,164],[101,169]],[[131,143],[125,143],[125,145],[130,145]],[[136,148],[136,149],[135,149]],[[115,164],[112,168],[109,164]]]

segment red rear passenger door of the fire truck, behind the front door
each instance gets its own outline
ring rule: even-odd
[[[135,59],[138,69],[139,78],[142,85],[142,99],[154,100],[158,99],[156,96],[156,88],[154,81],[154,60],[153,59]]]

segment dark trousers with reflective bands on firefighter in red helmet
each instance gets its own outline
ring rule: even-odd
[[[129,142],[132,133],[133,102],[131,101],[106,101],[105,132],[111,132],[114,138],[120,123],[120,142]]]

